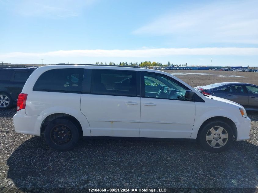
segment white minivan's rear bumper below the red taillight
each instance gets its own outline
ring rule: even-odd
[[[13,116],[15,132],[40,136],[40,127],[44,119],[45,116],[26,115],[25,109],[22,109]]]

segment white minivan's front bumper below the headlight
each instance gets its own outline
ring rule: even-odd
[[[236,141],[242,141],[250,138],[249,133],[251,130],[251,120],[249,117],[245,118],[244,122],[237,122],[235,125],[238,132]]]

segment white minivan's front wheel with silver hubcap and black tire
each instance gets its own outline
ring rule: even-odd
[[[200,145],[206,151],[223,152],[232,145],[233,135],[233,131],[227,123],[213,121],[202,128],[198,137]]]

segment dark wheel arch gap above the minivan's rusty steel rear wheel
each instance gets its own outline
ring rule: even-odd
[[[40,134],[41,135],[44,135],[44,131],[45,131],[45,128],[46,126],[53,120],[55,119],[67,119],[69,121],[71,121],[72,123],[74,123],[74,125],[77,127],[78,131],[79,131],[79,135],[80,137],[83,136],[83,132],[82,132],[82,126],[81,126],[81,123],[74,117],[74,116],[71,116],[69,114],[66,114],[66,113],[55,113],[55,114],[51,114],[49,116],[47,116],[43,122],[41,123],[41,127],[40,127]]]

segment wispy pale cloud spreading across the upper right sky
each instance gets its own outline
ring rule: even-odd
[[[186,42],[258,44],[257,6],[257,1],[213,2],[161,15],[133,34],[167,35]]]

